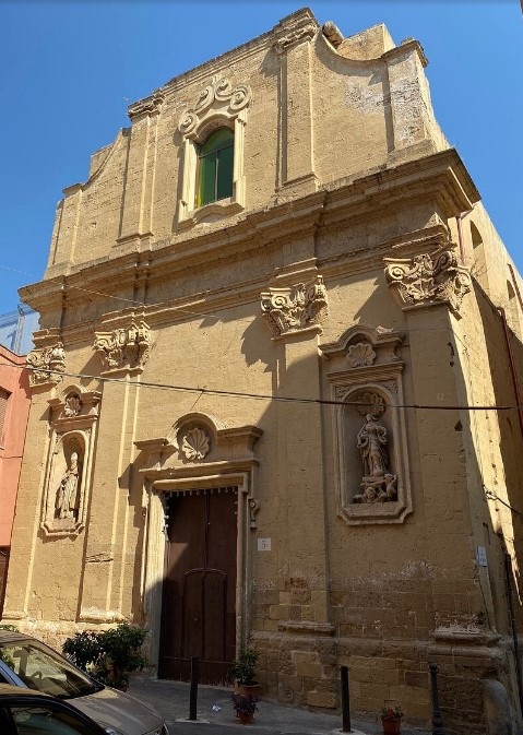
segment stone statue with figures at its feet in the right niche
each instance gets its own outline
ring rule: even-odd
[[[365,424],[359,429],[356,444],[361,455],[364,476],[360,483],[360,493],[354,496],[353,502],[390,502],[397,499],[397,477],[389,466],[387,451],[387,428],[377,419],[385,405],[378,396],[366,394],[365,401],[371,402],[370,412],[368,405],[358,406],[358,411],[365,413]]]

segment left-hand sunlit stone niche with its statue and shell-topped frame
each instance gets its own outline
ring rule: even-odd
[[[51,436],[40,522],[46,536],[78,536],[86,525],[99,400],[98,392],[70,386],[49,401]]]

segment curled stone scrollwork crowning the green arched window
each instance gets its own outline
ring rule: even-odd
[[[233,87],[228,79],[213,76],[211,84],[201,91],[197,104],[180,117],[178,130],[182,135],[194,134],[201,119],[213,105],[221,111],[225,108],[228,116],[235,118],[249,105],[251,97],[251,88],[247,84]]]

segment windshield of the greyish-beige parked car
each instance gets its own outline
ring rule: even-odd
[[[103,688],[39,641],[0,643],[0,659],[31,689],[59,699],[84,697]]]

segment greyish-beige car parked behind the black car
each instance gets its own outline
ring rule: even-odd
[[[95,681],[36,638],[0,629],[2,681],[67,701],[109,735],[168,735],[162,718],[134,697]]]

